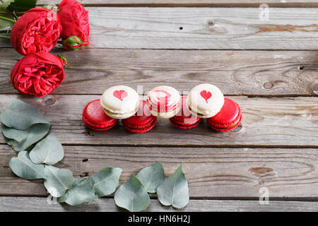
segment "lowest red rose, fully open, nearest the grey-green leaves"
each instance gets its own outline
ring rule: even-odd
[[[23,57],[11,71],[11,83],[23,95],[44,97],[64,80],[65,61],[48,52]]]

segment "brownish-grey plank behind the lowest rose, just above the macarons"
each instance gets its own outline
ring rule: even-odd
[[[71,64],[54,94],[102,94],[107,87],[125,83],[143,86],[169,83],[188,91],[199,83],[218,85],[226,95],[315,95],[318,81],[314,51],[218,51],[155,49],[84,49],[63,54]],[[0,49],[0,93],[18,93],[10,81],[20,55]],[[167,82],[169,81],[169,82]]]

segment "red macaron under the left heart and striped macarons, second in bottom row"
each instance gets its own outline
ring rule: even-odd
[[[156,122],[157,117],[151,114],[144,100],[140,100],[138,112],[136,112],[134,116],[128,119],[122,119],[124,127],[132,133],[145,133],[150,131]]]

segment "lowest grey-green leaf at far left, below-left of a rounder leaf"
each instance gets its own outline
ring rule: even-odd
[[[13,157],[9,163],[12,171],[23,179],[41,179],[45,178],[44,165],[34,164],[25,150],[18,153],[18,157]]]

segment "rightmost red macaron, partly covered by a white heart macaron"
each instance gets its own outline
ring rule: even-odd
[[[224,105],[218,114],[206,119],[212,129],[223,132],[235,129],[241,120],[242,113],[240,106],[228,98],[225,98]]]

